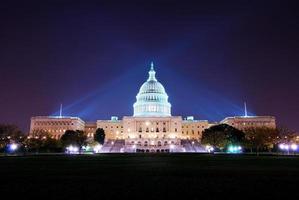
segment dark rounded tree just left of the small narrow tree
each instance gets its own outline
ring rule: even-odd
[[[76,145],[79,146],[79,148],[81,148],[86,139],[87,137],[85,133],[80,130],[67,130],[60,138],[64,147],[68,145]]]

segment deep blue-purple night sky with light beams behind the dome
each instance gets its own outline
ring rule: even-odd
[[[28,131],[60,103],[85,121],[132,115],[153,61],[173,115],[219,121],[246,101],[299,131],[296,1],[7,2],[0,123]]]

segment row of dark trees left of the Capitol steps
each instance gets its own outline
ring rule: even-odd
[[[67,130],[60,139],[55,139],[43,130],[29,135],[15,125],[0,124],[0,152],[2,153],[58,153],[64,152],[69,145],[81,148],[84,145],[103,144],[104,140],[103,129],[97,129],[94,138],[87,138],[86,134],[80,130]],[[12,145],[17,148],[12,149]]]

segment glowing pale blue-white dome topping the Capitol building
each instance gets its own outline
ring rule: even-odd
[[[139,89],[134,103],[134,116],[167,117],[171,116],[171,104],[163,85],[156,79],[154,65],[148,72],[149,77]]]

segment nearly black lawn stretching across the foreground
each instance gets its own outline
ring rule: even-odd
[[[200,154],[1,157],[0,172],[1,194],[25,199],[299,196],[299,157]]]

